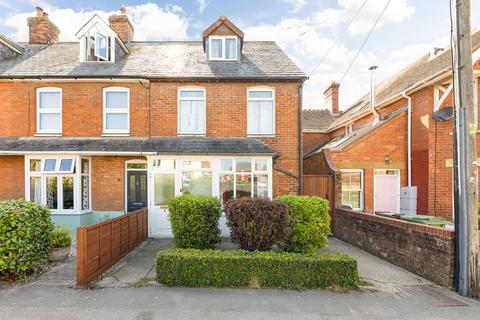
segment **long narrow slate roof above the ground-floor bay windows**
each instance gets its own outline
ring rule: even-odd
[[[158,154],[276,155],[255,138],[46,138],[0,137],[2,152],[151,152]]]

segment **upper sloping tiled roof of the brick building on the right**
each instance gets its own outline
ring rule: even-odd
[[[472,51],[479,48],[480,31],[476,30],[472,32]],[[423,55],[391,78],[378,84],[375,88],[375,101],[377,103],[388,101],[399,96],[405,89],[448,71],[451,68],[451,54],[450,48],[447,48],[436,55],[433,53]],[[335,129],[336,126],[362,113],[369,112],[369,110],[370,93],[368,92],[345,110],[343,114],[330,125],[330,130]]]

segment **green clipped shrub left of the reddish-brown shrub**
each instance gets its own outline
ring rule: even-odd
[[[168,204],[174,244],[178,248],[208,249],[220,242],[220,201],[184,194]]]

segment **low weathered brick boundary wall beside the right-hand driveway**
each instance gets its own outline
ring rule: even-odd
[[[335,210],[335,237],[442,286],[453,283],[454,232]]]

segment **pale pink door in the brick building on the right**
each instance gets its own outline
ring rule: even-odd
[[[399,170],[375,170],[375,212],[400,212]]]

